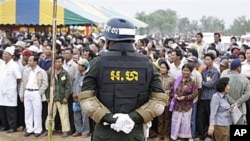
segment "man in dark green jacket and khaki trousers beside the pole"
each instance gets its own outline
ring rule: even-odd
[[[54,120],[57,113],[59,112],[61,125],[62,125],[62,137],[68,137],[70,131],[69,123],[69,110],[68,110],[68,99],[70,97],[72,87],[70,75],[66,70],[63,69],[64,58],[62,56],[57,56],[55,59],[55,93],[53,97],[53,123],[52,130],[55,128]],[[51,73],[48,74],[49,85],[51,80]],[[46,91],[46,98],[48,103],[50,102],[50,89]],[[49,116],[46,119],[46,130],[48,130]],[[47,136],[48,132],[44,133]]]

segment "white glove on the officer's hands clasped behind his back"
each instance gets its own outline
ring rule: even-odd
[[[128,114],[115,114],[113,118],[117,118],[117,120],[115,124],[111,124],[110,127],[116,132],[123,131],[124,133],[129,134],[135,126],[135,122]]]

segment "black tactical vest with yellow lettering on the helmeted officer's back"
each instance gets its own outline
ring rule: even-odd
[[[146,55],[119,43],[100,57],[97,97],[103,105],[112,113],[129,113],[148,102],[153,70]]]

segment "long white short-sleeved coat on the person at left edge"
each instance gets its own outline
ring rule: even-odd
[[[0,66],[0,105],[17,106],[17,79],[21,79],[21,71],[12,59]]]

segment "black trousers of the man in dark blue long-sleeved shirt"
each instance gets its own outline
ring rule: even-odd
[[[205,139],[207,136],[210,116],[210,101],[211,100],[200,100],[198,102],[196,127],[197,134],[200,139]]]

